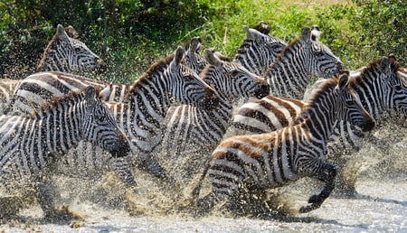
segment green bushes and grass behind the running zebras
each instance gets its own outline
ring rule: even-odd
[[[176,46],[201,36],[205,47],[233,57],[242,25],[269,23],[271,34],[290,42],[317,24],[321,41],[357,69],[393,53],[407,54],[407,4],[402,0],[353,0],[317,6],[310,1],[31,0],[0,2],[0,74],[33,72],[56,24],[72,25],[80,40],[107,61],[102,79],[128,82]]]

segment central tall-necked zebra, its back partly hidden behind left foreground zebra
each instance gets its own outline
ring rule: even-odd
[[[161,141],[160,127],[167,109],[174,104],[174,101],[208,108],[216,106],[218,102],[215,91],[199,79],[193,70],[184,65],[184,54],[184,49],[178,47],[175,53],[151,65],[140,78],[126,87],[127,94],[121,102],[123,106],[115,110],[119,126],[131,140],[131,154],[134,155],[137,166],[158,177],[166,177],[166,174],[150,154],[157,150],[156,147]],[[89,85],[88,83],[82,84],[83,79],[77,79],[76,76],[64,73],[40,73],[33,76],[30,82],[25,83],[26,86],[20,85],[20,89],[16,90],[16,94],[20,95],[19,98],[22,98],[22,101],[33,101],[31,98],[38,95],[47,99],[52,95],[61,95],[69,88],[74,88],[79,84]],[[65,84],[63,87],[56,85],[59,82],[55,82],[55,80],[60,79],[62,79],[61,83]],[[69,80],[69,85],[64,80]],[[115,85],[109,85],[107,89],[111,90],[112,86]],[[111,96],[109,91],[104,94],[107,97]],[[92,154],[82,155],[85,151],[90,151]],[[67,173],[66,169],[69,169],[71,173],[72,168],[77,169],[85,164],[96,164],[95,167],[90,167],[95,169],[87,168],[84,171],[101,170],[101,172],[105,172],[103,169],[98,169],[100,167],[97,165],[100,156],[105,156],[105,158],[109,158],[109,156],[101,154],[103,152],[100,149],[81,142],[79,146],[70,150],[64,166],[60,170]],[[75,158],[91,161],[89,163]],[[131,172],[133,161],[113,160],[112,167],[118,173],[120,180],[128,187],[137,187]]]

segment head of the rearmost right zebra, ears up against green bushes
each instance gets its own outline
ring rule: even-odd
[[[317,31],[319,32],[319,31]],[[317,75],[321,78],[328,79],[345,70],[345,65],[334,53],[323,43],[317,40],[316,30],[311,33],[309,27],[302,29],[300,41],[302,42],[303,59],[308,60],[309,75]]]

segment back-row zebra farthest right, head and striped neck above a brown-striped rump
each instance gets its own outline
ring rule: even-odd
[[[263,76],[270,84],[270,95],[302,99],[312,76],[327,79],[344,69],[332,51],[304,27],[301,36],[279,53]]]

